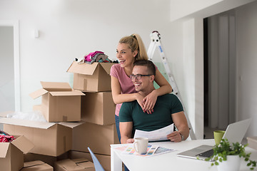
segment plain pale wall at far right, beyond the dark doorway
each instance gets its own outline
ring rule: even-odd
[[[246,136],[257,135],[257,1],[236,9],[238,120],[252,118]]]

